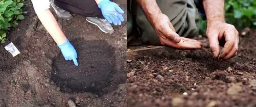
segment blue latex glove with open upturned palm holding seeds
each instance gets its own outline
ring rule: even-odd
[[[124,11],[114,2],[109,0],[101,0],[98,7],[101,9],[102,15],[109,23],[121,25],[124,21],[122,14]]]

